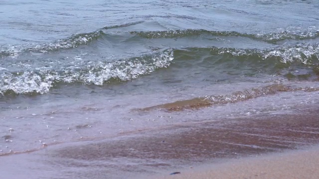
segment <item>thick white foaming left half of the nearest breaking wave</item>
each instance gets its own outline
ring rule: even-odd
[[[0,75],[0,93],[25,94],[48,92],[58,83],[82,83],[102,86],[112,79],[128,81],[166,68],[173,60],[173,51],[165,50],[154,55],[98,62],[83,68],[68,67],[60,70],[37,70]]]

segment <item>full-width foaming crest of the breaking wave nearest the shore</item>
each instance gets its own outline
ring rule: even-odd
[[[214,66],[219,64],[244,61],[244,66],[251,66],[268,69],[269,73],[275,72],[274,68],[279,64],[299,62],[313,68],[313,72],[318,73],[319,67],[319,44],[297,44],[288,46],[278,46],[270,49],[236,49],[236,48],[186,48],[164,50],[151,55],[133,57],[113,62],[93,62],[82,64],[81,66],[58,67],[57,69],[25,69],[22,72],[9,72],[5,68],[0,68],[0,93],[45,93],[58,83],[81,83],[103,85],[112,79],[118,81],[128,81],[140,76],[150,74],[159,68],[170,65],[173,59],[178,63],[185,59],[185,55],[193,55],[194,58],[200,56],[207,57],[207,53],[212,60],[217,60]],[[204,55],[203,55],[204,54]],[[218,58],[216,58],[216,56]],[[196,58],[195,58],[196,57]],[[189,59],[189,58],[186,58]],[[265,66],[266,65],[266,66]],[[236,65],[240,69],[240,64]],[[279,67],[279,68],[282,68]]]

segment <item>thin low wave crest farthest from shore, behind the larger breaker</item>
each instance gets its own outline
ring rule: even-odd
[[[48,53],[52,51],[58,51],[61,49],[77,48],[80,45],[90,44],[92,41],[97,40],[104,35],[107,35],[108,29],[128,27],[142,23],[143,21],[131,22],[126,24],[105,26],[101,29],[90,33],[79,33],[71,35],[65,39],[56,40],[51,43],[43,44],[26,44],[26,45],[12,45],[9,47],[0,47],[0,57],[18,57],[23,52],[34,53]],[[285,28],[276,29],[270,33],[240,33],[236,31],[208,31],[204,29],[185,29],[185,30],[168,30],[168,31],[131,31],[125,32],[131,35],[137,35],[141,38],[154,39],[154,38],[181,38],[192,37],[201,35],[211,36],[240,36],[247,37],[253,40],[260,40],[276,44],[278,41],[285,39],[305,40],[314,39],[319,37],[319,28],[316,26],[309,27],[308,29],[302,28]]]

